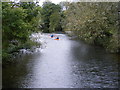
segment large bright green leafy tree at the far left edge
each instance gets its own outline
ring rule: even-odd
[[[27,16],[25,10],[23,10],[21,7],[12,8],[11,5],[5,8],[3,3],[2,15],[3,41],[9,42],[14,39],[20,40],[21,42],[25,41],[28,37],[29,29],[28,23],[24,21],[25,17]]]

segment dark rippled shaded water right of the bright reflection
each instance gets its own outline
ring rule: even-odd
[[[118,56],[107,53],[103,48],[86,45],[82,41],[72,41],[73,73],[77,84],[87,88],[118,87]]]

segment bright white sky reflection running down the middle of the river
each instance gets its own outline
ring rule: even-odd
[[[72,86],[69,59],[71,42],[63,34],[55,35],[59,36],[60,40],[50,38],[50,34],[43,34],[40,38],[46,43],[46,48],[40,53],[41,56],[36,57],[29,87],[67,88]]]

